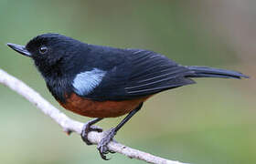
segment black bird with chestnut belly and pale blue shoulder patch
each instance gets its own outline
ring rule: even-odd
[[[182,66],[150,50],[91,45],[56,33],[35,36],[26,46],[7,46],[34,61],[63,108],[93,118],[80,134],[87,145],[89,132],[102,131],[92,125],[127,114],[98,144],[102,159],[112,152],[108,143],[117,131],[155,94],[195,84],[194,77],[248,78],[232,70]]]

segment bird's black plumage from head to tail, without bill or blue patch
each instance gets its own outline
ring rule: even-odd
[[[48,53],[40,54],[40,46],[47,46]],[[80,96],[99,101],[153,95],[194,84],[191,77],[246,77],[219,68],[184,67],[153,51],[95,46],[59,34],[36,36],[26,48],[52,95],[63,102],[75,92],[71,83],[76,75],[93,68],[106,71],[106,75],[90,94]]]

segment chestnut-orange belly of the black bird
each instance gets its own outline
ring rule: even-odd
[[[144,102],[147,97],[123,101],[95,101],[71,94],[65,103],[59,104],[74,113],[91,118],[115,118],[129,113]]]

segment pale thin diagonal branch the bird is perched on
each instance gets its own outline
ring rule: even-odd
[[[67,133],[76,132],[80,135],[81,128],[83,124],[81,122],[75,121],[67,117],[64,113],[60,112],[59,109],[53,107],[47,100],[41,97],[34,89],[28,87],[25,83],[8,75],[4,70],[0,69],[0,83],[6,87],[10,87],[12,90],[16,91],[22,97],[25,97],[29,102],[34,104],[39,108],[44,114],[56,121],[61,128],[64,129]],[[89,133],[89,140],[93,144],[98,144],[101,141],[101,138],[104,137],[104,132],[94,132]],[[148,163],[161,163],[161,164],[185,164],[174,160],[163,159],[156,157],[149,153],[132,149],[124,146],[121,143],[112,141],[108,145],[109,149],[124,156],[127,156],[131,159],[141,159]]]

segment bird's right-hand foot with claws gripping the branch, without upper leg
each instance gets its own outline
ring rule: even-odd
[[[108,160],[105,155],[108,154],[109,152],[115,153],[114,151],[108,148],[108,144],[112,141],[112,138],[114,137],[115,134],[116,134],[115,128],[111,128],[109,131],[106,132],[105,137],[101,138],[101,142],[98,145],[97,149],[101,154],[101,158],[104,160]]]

